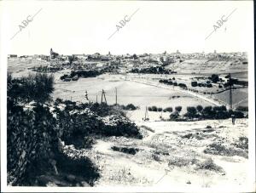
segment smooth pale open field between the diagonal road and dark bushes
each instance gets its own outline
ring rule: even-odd
[[[141,82],[125,81],[124,76],[103,75],[93,78],[82,78],[78,82],[61,82],[55,84],[55,98],[72,99],[76,101],[85,101],[85,90],[88,92],[88,98],[96,102],[101,101],[102,89],[106,92],[108,104],[115,103],[115,88],[118,93],[118,103],[120,105],[133,104],[139,107],[139,110],[134,112],[134,119],[142,119],[145,113],[146,106],[156,105],[157,107],[166,108],[172,106],[183,106],[183,112],[189,105],[211,105],[207,101],[198,99],[190,94],[185,94],[172,89],[157,88],[151,85],[146,85]],[[164,117],[168,117],[168,113],[164,113]],[[160,112],[149,112],[149,118],[154,120],[159,119]]]

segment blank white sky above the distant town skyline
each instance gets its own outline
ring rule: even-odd
[[[22,20],[40,9],[10,40],[20,30]],[[108,39],[116,25],[120,26],[119,21],[136,10]],[[177,49],[181,53],[230,52],[247,51],[253,41],[253,1],[12,1],[0,3],[0,15],[1,38],[7,40],[9,54],[49,54],[50,48],[59,54],[172,53]],[[226,20],[223,26],[213,31],[221,18]]]

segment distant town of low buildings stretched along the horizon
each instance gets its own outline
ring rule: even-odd
[[[99,53],[96,54],[73,54],[63,55],[58,54],[50,48],[49,55],[34,54],[34,55],[21,55],[9,54],[8,59],[30,59],[30,60],[44,60],[49,63],[49,67],[63,66],[72,69],[101,69],[104,67],[113,66],[113,68],[119,68],[120,71],[131,71],[132,68],[143,68],[148,66],[157,65],[169,65],[177,61],[181,62],[188,59],[234,59],[242,58],[247,62],[246,53],[213,53],[205,54],[193,53],[193,54],[181,54],[178,50],[175,53],[167,54],[124,54],[124,55],[112,55],[110,52],[106,55]],[[72,62],[71,62],[72,59]]]

